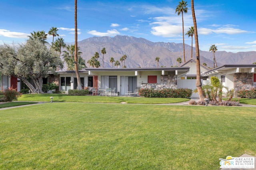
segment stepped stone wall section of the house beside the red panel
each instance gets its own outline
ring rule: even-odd
[[[177,75],[161,75],[161,83],[142,83],[140,88],[154,88],[160,90],[164,88],[177,89]]]

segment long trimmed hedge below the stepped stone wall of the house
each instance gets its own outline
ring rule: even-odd
[[[138,90],[140,96],[145,98],[190,98],[192,89],[188,88],[164,88],[161,90],[154,90],[153,88],[144,88]]]

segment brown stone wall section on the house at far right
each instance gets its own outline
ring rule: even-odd
[[[234,92],[237,90],[250,90],[253,85],[253,73],[242,72],[234,74]]]

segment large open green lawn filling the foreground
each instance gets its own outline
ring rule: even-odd
[[[218,170],[256,156],[255,107],[46,103],[0,111],[0,169]]]

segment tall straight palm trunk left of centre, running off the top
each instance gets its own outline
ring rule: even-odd
[[[77,47],[77,0],[75,0],[75,70],[76,70],[76,80],[77,80],[77,90],[82,90],[82,83],[80,79],[80,74],[78,70],[78,47]]]

